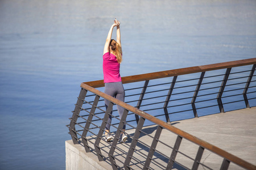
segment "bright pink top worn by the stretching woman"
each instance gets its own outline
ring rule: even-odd
[[[111,53],[103,55],[103,75],[104,83],[121,82],[119,73],[120,64],[117,62],[117,57]]]

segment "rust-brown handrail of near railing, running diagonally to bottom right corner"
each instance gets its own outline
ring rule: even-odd
[[[256,62],[256,58],[254,59],[253,63],[255,63],[255,62]],[[118,99],[115,99],[112,96],[106,95],[106,94],[104,94],[104,92],[98,91],[97,89],[95,89],[91,86],[88,86],[85,83],[82,83],[81,87],[90,91],[90,92],[93,92],[94,94],[97,94],[98,96],[103,97],[104,99],[112,101],[113,103],[118,104],[121,107],[126,108],[127,110],[129,110],[129,111],[131,111],[135,114],[138,114],[138,116],[146,118],[147,120],[150,120],[151,122],[154,122],[155,124],[157,124],[159,126],[162,126],[163,128],[166,128],[167,130],[172,131],[173,133],[179,135],[180,137],[188,139],[189,141],[191,141],[193,143],[196,143],[197,145],[200,145],[200,146],[206,148],[207,150],[212,151],[215,154],[220,155],[223,158],[228,159],[228,160],[230,160],[231,162],[233,162],[237,165],[240,165],[241,167],[244,167],[246,169],[256,169],[255,165],[253,165],[249,162],[246,162],[245,160],[240,159],[237,156],[232,155],[229,152],[226,152],[226,151],[222,150],[221,148],[218,148],[214,145],[211,145],[210,143],[205,142],[205,141],[203,141],[203,140],[201,140],[201,139],[199,139],[199,138],[197,138],[197,137],[195,137],[195,136],[193,136],[189,133],[186,133],[183,130],[177,129],[177,128],[175,128],[175,126],[172,126],[172,125],[168,124],[167,122],[159,120],[158,118],[156,118],[154,116],[151,116],[150,114],[148,114],[146,112],[143,112],[143,111],[139,110],[138,108],[132,107],[131,105],[129,105],[127,103],[124,103],[124,102],[122,102]]]

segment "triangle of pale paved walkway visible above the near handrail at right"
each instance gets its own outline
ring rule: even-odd
[[[174,126],[256,165],[256,107],[178,121]],[[210,156],[207,161],[214,163]],[[229,168],[240,169],[232,164]]]

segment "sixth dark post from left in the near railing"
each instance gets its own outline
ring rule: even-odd
[[[155,137],[152,141],[150,150],[148,151],[147,159],[146,159],[143,169],[148,169],[150,167],[150,163],[151,163],[152,157],[154,155],[156,145],[158,144],[158,140],[159,140],[160,134],[162,132],[162,129],[163,128],[161,126],[158,126],[158,129],[156,129]]]

